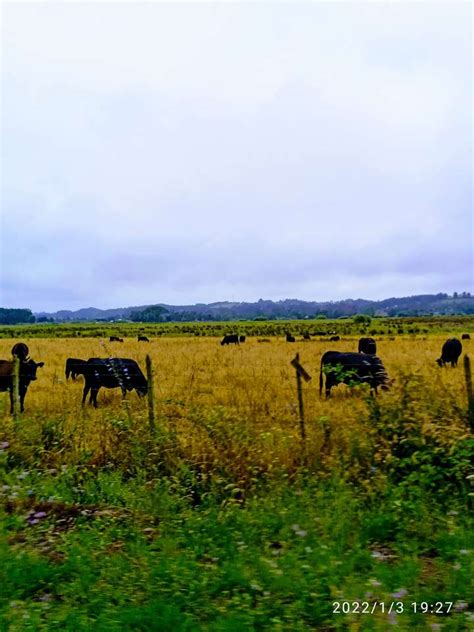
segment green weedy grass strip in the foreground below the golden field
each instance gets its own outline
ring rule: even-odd
[[[5,463],[4,463],[5,465]],[[193,506],[176,478],[0,468],[3,630],[469,630],[468,499],[302,472]],[[403,614],[333,614],[337,600]],[[412,602],[454,602],[449,615]],[[433,627],[434,626],[434,627]],[[441,627],[436,627],[441,626]]]

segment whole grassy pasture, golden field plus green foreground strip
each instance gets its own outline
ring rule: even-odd
[[[357,350],[357,332],[239,347],[189,333],[21,337],[45,367],[18,421],[0,394],[4,628],[470,629],[474,449],[462,362],[435,363],[449,334],[375,336],[393,388],[340,385],[325,400],[321,355]],[[11,346],[0,339],[0,357]],[[296,352],[312,376],[304,449]],[[145,370],[146,354],[155,436],[135,392],[101,389],[94,410],[82,377],[65,380],[67,357]],[[405,611],[334,614],[344,599]],[[454,605],[415,613],[421,601]]]

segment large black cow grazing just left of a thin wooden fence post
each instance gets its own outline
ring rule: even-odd
[[[82,403],[90,391],[89,404],[97,408],[97,394],[101,387],[122,389],[125,398],[127,391],[135,389],[139,397],[148,392],[145,376],[135,360],[128,358],[89,358],[83,367],[85,379]]]

